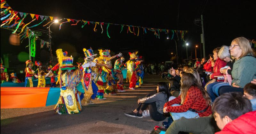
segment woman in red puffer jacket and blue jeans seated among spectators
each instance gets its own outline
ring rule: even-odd
[[[213,59],[215,60],[214,66],[213,66],[213,73],[210,74],[210,79],[216,79],[217,82],[213,82],[211,84],[206,84],[206,90],[211,96],[212,102],[215,100],[216,97],[214,97],[214,93],[212,91],[212,86],[214,86],[217,83],[224,82],[224,80],[218,80],[215,76],[223,76],[223,74],[220,73],[220,68],[225,67],[227,63],[223,60],[221,60],[218,56],[218,53],[220,51],[220,47],[217,47],[213,50]]]

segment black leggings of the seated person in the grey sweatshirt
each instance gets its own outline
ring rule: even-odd
[[[151,95],[150,94],[146,95],[146,97],[149,97],[149,96],[151,96]],[[152,120],[154,120],[154,121],[163,121],[166,118],[163,114],[161,114],[157,111],[156,102],[139,103],[136,110],[139,112],[140,110],[144,111],[147,108],[149,110],[149,115],[150,115]]]

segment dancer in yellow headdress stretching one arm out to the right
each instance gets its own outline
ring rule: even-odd
[[[108,64],[108,67],[104,66],[102,67],[102,71],[101,71],[101,76],[105,78],[106,82],[107,82],[107,88],[104,90],[104,92],[106,94],[110,94],[110,95],[114,95],[117,93],[116,90],[116,82],[115,79],[112,76],[112,72],[113,72],[113,68],[111,65],[111,60],[114,59],[117,56],[122,56],[122,53],[119,53],[115,56],[110,56],[110,50],[106,49],[106,50],[99,50],[100,52],[100,56],[96,59],[97,63],[102,63],[102,64]]]

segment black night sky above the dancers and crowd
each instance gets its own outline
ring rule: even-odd
[[[230,45],[236,37],[256,38],[256,10],[255,1],[253,0],[236,2],[231,0],[7,0],[7,3],[15,11],[45,16],[188,30],[184,39],[190,44],[188,55],[192,52],[192,58],[195,58],[195,45],[200,45],[201,34],[201,27],[194,24],[194,19],[200,18],[201,14],[204,15],[206,55],[212,53],[215,47]],[[25,23],[30,21],[30,16],[24,20]],[[35,24],[40,21],[38,19]],[[47,22],[49,22],[49,19]],[[43,27],[47,22],[31,29],[47,32],[48,29]],[[198,23],[198,25],[201,24]],[[149,31],[147,34],[140,33],[139,36],[135,36],[132,33],[126,33],[126,26],[124,26],[123,32],[119,33],[121,26],[110,25],[108,32],[111,38],[109,39],[106,34],[106,25],[103,26],[102,34],[100,26],[97,26],[98,32],[96,33],[93,31],[94,25],[86,25],[84,28],[81,28],[81,26],[82,23],[78,23],[77,26],[70,26],[70,23],[65,23],[59,31],[59,25],[53,24],[51,26],[53,54],[55,54],[57,48],[62,48],[70,53],[83,54],[82,48],[89,48],[90,46],[94,50],[108,48],[116,53],[123,50],[137,49],[139,54],[145,57],[146,62],[162,62],[170,60],[171,52],[176,52],[175,42],[167,40],[167,35],[164,33],[160,34],[160,39]],[[141,29],[140,32],[142,32]],[[18,54],[20,51],[28,51],[25,48],[28,45],[28,40],[24,40],[20,46],[10,45],[8,43],[10,33],[11,31],[1,29],[1,56],[6,53]],[[47,35],[47,33],[43,33],[40,38],[48,41]],[[176,36],[174,39],[177,41]],[[39,43],[37,42],[37,46],[39,46]],[[177,41],[180,59],[182,57],[186,58],[186,46],[184,44],[185,42],[180,39]],[[47,50],[46,48],[43,49]],[[200,56],[199,49],[197,56]],[[40,53],[40,48],[37,48],[36,53]],[[124,55],[127,55],[127,53]],[[36,56],[36,58],[39,58],[38,55]]]

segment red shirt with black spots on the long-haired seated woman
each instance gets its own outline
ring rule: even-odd
[[[168,107],[166,111],[168,112],[173,112],[173,113],[182,113],[182,112],[187,112],[189,108],[195,109],[197,111],[204,110],[207,105],[206,105],[206,100],[203,97],[202,92],[198,87],[191,86],[188,89],[187,96],[183,102],[182,105],[180,106],[173,106],[173,104],[180,104],[181,103],[181,98],[178,96],[177,98],[166,102],[164,104],[164,108]],[[202,113],[198,113],[200,117],[203,116],[209,116],[212,114],[211,106],[209,106],[206,111]]]

